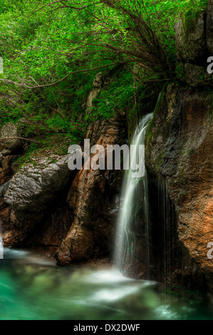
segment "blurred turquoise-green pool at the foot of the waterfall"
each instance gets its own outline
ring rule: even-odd
[[[38,255],[5,249],[0,319],[212,319],[212,306],[198,292],[165,290],[116,269],[59,268]]]

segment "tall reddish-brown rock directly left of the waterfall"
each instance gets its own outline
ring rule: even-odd
[[[123,144],[125,131],[120,120],[114,118],[110,123],[95,123],[87,138],[91,139],[91,145]],[[67,199],[74,220],[56,253],[58,264],[100,257],[113,250],[120,184],[120,171],[83,168],[78,172]]]

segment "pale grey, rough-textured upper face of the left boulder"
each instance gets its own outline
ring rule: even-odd
[[[51,163],[51,160],[55,160]],[[65,157],[41,158],[24,165],[11,180],[5,200],[17,210],[42,211],[66,187],[71,170]]]

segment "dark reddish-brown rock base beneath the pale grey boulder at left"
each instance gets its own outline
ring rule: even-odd
[[[0,202],[1,206],[1,202]],[[56,205],[48,212],[48,217],[32,227],[31,222],[26,222],[24,229],[19,229],[14,210],[7,206],[1,207],[0,225],[4,233],[4,245],[9,248],[23,247],[53,257],[66,236],[73,221],[73,213],[64,205]]]

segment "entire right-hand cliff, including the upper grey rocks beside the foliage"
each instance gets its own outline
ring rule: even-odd
[[[173,272],[172,276],[182,277],[183,282],[211,289],[213,263],[207,257],[207,244],[213,237],[212,76],[208,78],[206,62],[212,56],[212,9],[212,1],[208,1],[207,16],[191,21],[190,29],[185,18],[177,23],[177,58],[188,86],[165,86],[146,141],[152,201],[158,192],[156,201],[167,207],[167,217],[164,213],[158,222],[154,219],[157,234],[165,239],[165,277]],[[160,250],[155,233],[153,241]],[[171,241],[175,249],[170,247]],[[175,262],[171,262],[171,252]]]

